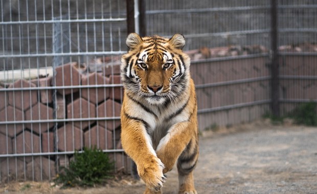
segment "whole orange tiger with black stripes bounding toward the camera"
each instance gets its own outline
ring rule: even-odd
[[[185,38],[131,33],[126,44],[120,66],[122,148],[137,165],[144,194],[163,193],[165,174],[176,160],[178,193],[197,193],[197,101]]]

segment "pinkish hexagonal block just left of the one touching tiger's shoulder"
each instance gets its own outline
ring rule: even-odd
[[[96,117],[96,107],[83,98],[75,100],[67,105],[67,118],[92,118]],[[92,125],[95,121],[74,122],[78,128],[84,129]]]

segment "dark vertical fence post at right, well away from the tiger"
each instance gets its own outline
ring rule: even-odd
[[[271,111],[280,115],[277,0],[271,0]]]

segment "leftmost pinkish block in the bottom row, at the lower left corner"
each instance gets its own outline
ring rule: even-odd
[[[24,169],[26,163],[17,158],[5,159],[0,164],[1,180],[20,180],[24,179]],[[9,170],[9,171],[8,171]],[[17,176],[17,178],[16,178]]]

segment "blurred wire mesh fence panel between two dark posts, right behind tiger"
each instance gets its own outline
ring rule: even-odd
[[[269,111],[270,1],[149,1],[149,35],[182,33],[196,84],[199,128]]]

